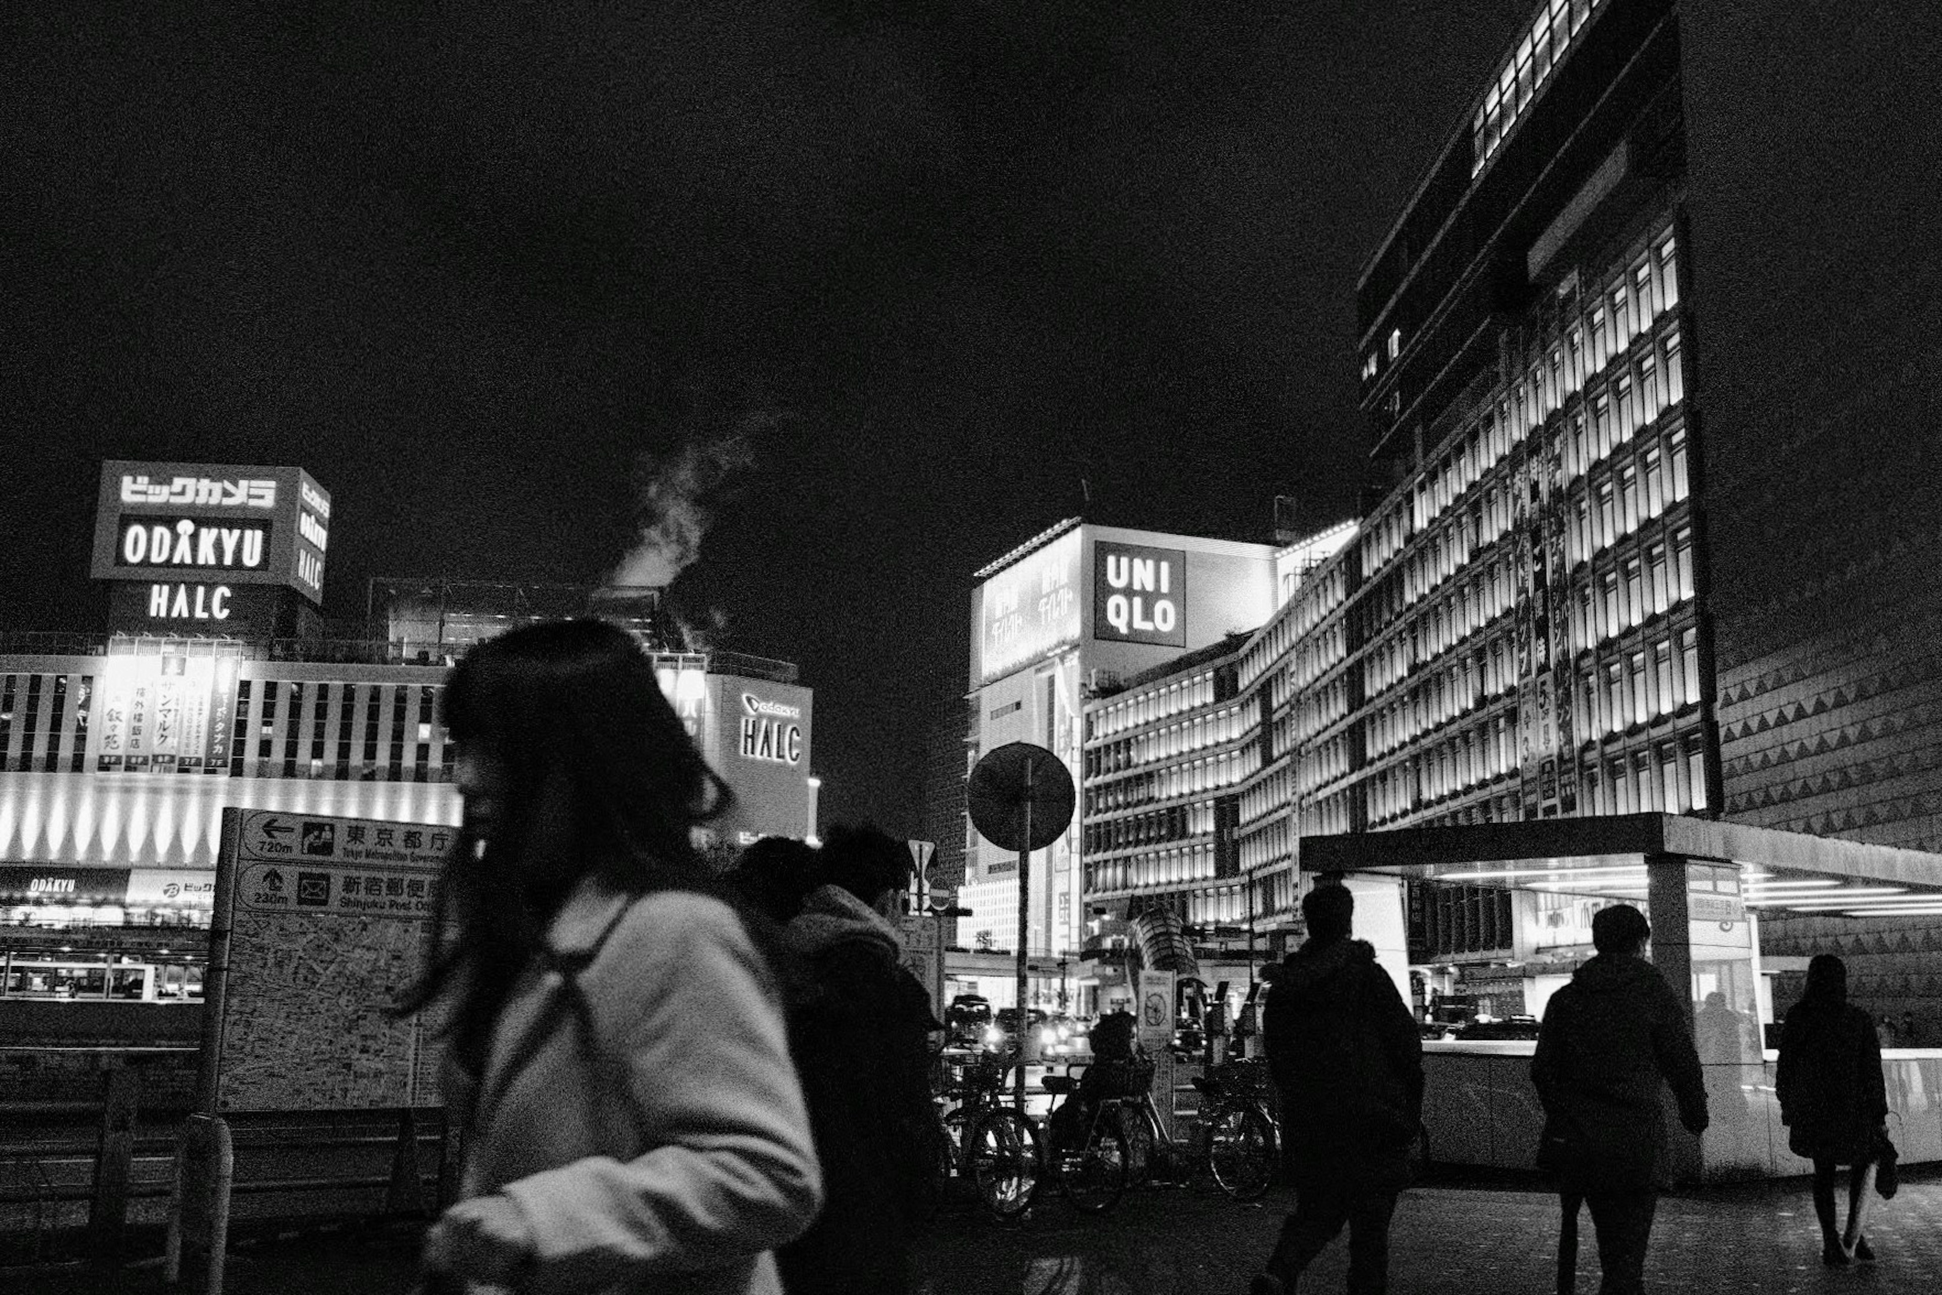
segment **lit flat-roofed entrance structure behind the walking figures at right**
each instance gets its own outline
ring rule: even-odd
[[[1769,1027],[1798,996],[1800,959],[1769,967],[1763,926],[1942,914],[1942,856],[1666,814],[1305,837],[1301,870],[1340,874],[1356,891],[1356,934],[1375,944],[1404,996],[1410,946],[1423,934],[1406,895],[1462,885],[1501,897],[1499,918],[1488,920],[1509,914],[1497,936],[1507,957],[1491,971],[1532,1015],[1592,955],[1592,913],[1645,911],[1651,961],[1691,1002],[1713,1116],[1701,1138],[1674,1140],[1674,1171],[1688,1182],[1810,1171],[1787,1151],[1769,1046]],[[1482,911],[1464,920],[1486,920]],[[1423,1124],[1437,1161],[1530,1165],[1542,1124],[1534,1048],[1530,1039],[1423,1043]],[[1942,1159],[1942,1048],[1890,1048],[1884,1064],[1903,1118],[1901,1159]]]

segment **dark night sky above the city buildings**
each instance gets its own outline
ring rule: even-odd
[[[1354,513],[1356,274],[1530,4],[419,8],[8,14],[0,627],[99,627],[103,458],[309,468],[359,623],[598,581],[742,433],[674,600],[921,835],[977,567]]]

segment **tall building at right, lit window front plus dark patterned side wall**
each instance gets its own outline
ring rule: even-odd
[[[1915,64],[1868,49],[1942,52],[1942,16],[1532,6],[1357,283],[1346,759],[1291,792],[1326,823],[1301,835],[1680,814],[1942,841],[1917,648],[1942,219],[1932,167],[1884,144]],[[1499,1012],[1536,1008],[1532,949],[1577,947],[1542,932],[1583,934],[1542,885],[1404,889],[1410,959]],[[1767,905],[1763,940],[1907,949],[1901,903],[1926,895]]]

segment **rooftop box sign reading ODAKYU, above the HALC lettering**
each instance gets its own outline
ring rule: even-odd
[[[282,584],[320,602],[328,542],[330,493],[303,468],[101,466],[97,581]]]

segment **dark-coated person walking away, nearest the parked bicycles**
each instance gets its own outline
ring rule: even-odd
[[[1375,947],[1352,940],[1356,899],[1321,881],[1301,899],[1307,942],[1268,992],[1262,1037],[1280,1091],[1295,1212],[1251,1295],[1286,1295],[1344,1225],[1348,1289],[1389,1287],[1389,1219],[1422,1130],[1423,1045]]]

